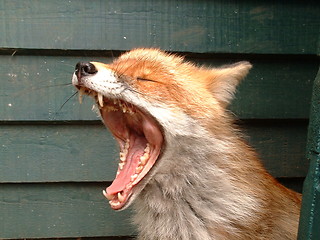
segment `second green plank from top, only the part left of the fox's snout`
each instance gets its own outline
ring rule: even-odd
[[[76,92],[71,84],[75,64],[88,58],[0,56],[0,59],[0,64],[4,64],[0,70],[3,84],[0,89],[1,120],[98,119],[91,111],[93,101],[89,98],[80,105],[76,96],[59,110]],[[99,60],[107,62],[110,58]]]

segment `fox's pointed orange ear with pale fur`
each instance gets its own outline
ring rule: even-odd
[[[252,68],[249,62],[238,62],[223,68],[213,69],[210,90],[214,97],[227,106],[232,100],[236,87]]]

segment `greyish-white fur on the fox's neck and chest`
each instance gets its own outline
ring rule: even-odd
[[[258,203],[234,186],[224,167],[234,161],[234,143],[196,124],[166,136],[157,171],[135,202],[140,239],[224,239],[236,234],[235,223],[255,221],[249,216]]]

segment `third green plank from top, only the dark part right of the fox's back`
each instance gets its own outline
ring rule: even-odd
[[[246,126],[248,142],[275,177],[305,177],[307,123],[305,121],[257,121]]]

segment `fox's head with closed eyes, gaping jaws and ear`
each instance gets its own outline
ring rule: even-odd
[[[103,191],[113,209],[128,207],[168,167],[162,162],[175,161],[167,156],[179,137],[223,128],[226,106],[250,68],[248,62],[198,67],[158,49],[134,49],[111,64],[77,64],[73,85],[79,96],[95,98],[120,146],[116,177]]]

